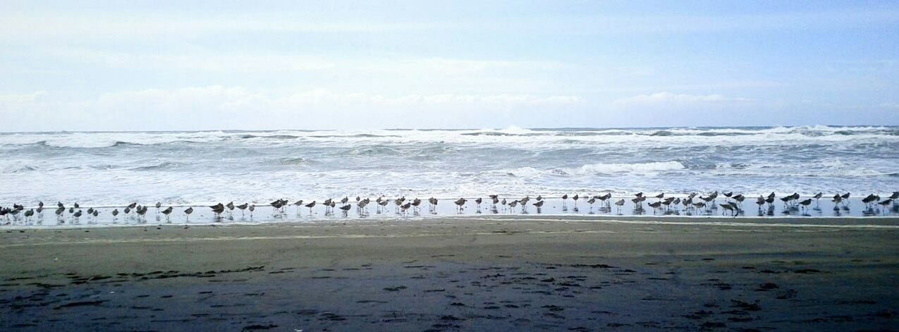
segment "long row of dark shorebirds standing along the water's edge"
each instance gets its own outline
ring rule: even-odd
[[[680,209],[680,206],[683,207],[682,209],[684,211],[690,211],[690,210],[710,211],[711,209],[717,209],[717,207],[720,207],[722,210],[722,212],[721,212],[722,215],[726,215],[729,213],[729,215],[734,216],[734,217],[736,217],[741,211],[743,211],[743,201],[746,200],[746,197],[743,194],[740,194],[740,193],[734,194],[734,193],[730,192],[730,193],[720,193],[720,195],[724,196],[725,202],[717,203],[717,205],[716,205],[716,202],[719,197],[718,192],[709,193],[708,195],[700,195],[699,193],[690,193],[689,195],[687,195],[686,197],[683,197],[683,198],[672,197],[672,196],[665,197],[664,193],[659,193],[659,194],[653,196],[656,199],[656,201],[648,202],[647,205],[649,207],[653,208],[654,211],[663,211],[663,212]],[[822,197],[823,197],[823,193],[816,193],[813,196],[800,201],[801,197],[799,196],[798,193],[793,193],[793,194],[779,197],[779,198],[777,197],[777,195],[775,193],[770,193],[767,196],[764,196],[764,195],[759,196],[756,199],[755,203],[758,205],[758,208],[760,211],[762,209],[766,208],[766,206],[767,206],[767,209],[773,209],[774,203],[777,200],[779,200],[780,202],[783,202],[785,209],[806,210],[806,209],[808,209],[809,205],[812,204],[812,202],[817,202]],[[615,202],[612,202],[613,200],[612,200],[611,193],[605,193],[602,195],[574,194],[573,196],[570,196],[570,197],[567,194],[565,194],[561,198],[562,198],[563,211],[567,210],[567,202],[569,199],[572,200],[572,202],[574,203],[574,211],[578,211],[577,203],[579,201],[584,201],[587,204],[589,204],[591,210],[593,209],[593,204],[595,204],[597,202],[601,205],[601,209],[610,210],[611,205],[614,204],[619,211],[620,211],[621,207],[624,206],[626,203],[625,199],[619,199]],[[644,193],[636,193],[634,195],[634,198],[630,199],[630,202],[634,203],[637,210],[642,210],[643,202],[645,202],[648,198],[649,197],[647,195],[645,195]],[[833,195],[831,202],[834,203],[834,210],[839,209],[840,206],[846,207],[846,205],[849,202],[849,198],[850,198],[850,193],[837,193],[837,194]],[[899,192],[894,192],[892,195],[890,195],[883,201],[881,201],[881,197],[879,195],[871,193],[868,196],[866,196],[865,198],[861,199],[861,202],[865,203],[868,208],[873,208],[874,206],[876,206],[875,204],[878,204],[878,205],[886,208],[889,205],[895,204],[895,202],[897,200],[899,200]],[[546,202],[544,200],[544,198],[540,195],[538,195],[536,198],[533,198],[533,199],[531,199],[530,196],[525,196],[524,198],[521,198],[521,199],[508,200],[506,198],[501,199],[499,197],[499,195],[495,195],[495,194],[488,195],[486,200],[479,197],[479,198],[476,198],[476,199],[473,199],[470,201],[475,202],[477,211],[481,210],[482,204],[489,204],[489,208],[494,212],[499,211],[499,209],[502,209],[503,212],[506,212],[506,211],[514,212],[514,211],[517,211],[517,209],[521,209],[522,213],[528,212],[529,203],[530,203],[530,206],[534,206],[539,213],[540,209],[543,207],[543,204]],[[325,207],[325,215],[330,215],[330,214],[334,213],[334,209],[339,209],[345,216],[349,211],[353,210],[354,208],[357,211],[357,213],[359,213],[360,215],[365,215],[365,214],[369,213],[369,205],[371,202],[372,201],[369,198],[362,198],[360,196],[357,196],[355,198],[354,202],[351,202],[350,197],[343,197],[343,199],[341,199],[339,201],[329,198],[329,199],[325,200],[324,202],[322,202],[321,205]],[[429,198],[427,200],[430,213],[437,214],[438,202],[439,202],[438,199],[433,198],[433,197]],[[468,202],[469,202],[469,200],[466,198],[459,198],[458,200],[453,201],[453,203],[456,205],[456,211],[458,213],[462,213],[462,211],[465,210],[466,204]],[[378,197],[378,199],[376,199],[374,201],[374,205],[376,206],[378,213],[381,213],[382,211],[387,211],[388,206],[393,204],[394,211],[396,212],[396,214],[403,214],[403,215],[408,213],[408,211],[410,211],[410,210],[413,211],[414,213],[420,212],[423,203],[424,203],[424,201],[422,201],[418,198],[408,200],[405,197],[400,197],[400,198],[396,198],[396,199],[386,199],[384,197]],[[285,213],[285,210],[288,207],[294,206],[297,208],[297,213],[299,213],[301,208],[305,207],[305,208],[309,209],[309,214],[312,214],[313,209],[317,205],[319,205],[319,203],[316,201],[303,202],[303,200],[299,200],[297,202],[291,203],[291,202],[289,202],[289,200],[279,199],[274,202],[270,202],[268,205],[270,205],[274,209],[275,213]],[[167,207],[165,207],[165,209],[163,209],[162,202],[156,202],[155,208],[156,208],[156,213],[162,213],[163,215],[165,215],[165,220],[168,220],[169,216],[172,213],[174,213],[174,207],[172,207],[172,206],[167,206]],[[228,202],[227,204],[222,204],[219,202],[218,204],[209,206],[209,209],[215,215],[217,220],[220,219],[222,217],[222,214],[225,213],[226,211],[229,214],[233,214],[235,209],[240,210],[241,214],[244,214],[245,211],[249,211],[250,217],[252,218],[253,212],[256,210],[256,205],[252,204],[252,203],[246,203],[246,202],[243,204],[237,204],[237,205],[234,202]],[[110,213],[111,213],[113,219],[118,218],[118,216],[120,214],[127,216],[132,212],[134,213],[133,215],[137,216],[137,218],[144,218],[145,215],[147,214],[147,210],[148,210],[147,205],[140,205],[137,202],[132,202],[129,205],[125,206],[122,209],[122,211],[119,211],[119,209],[116,208],[116,209],[113,209]],[[22,214],[22,217],[24,218],[24,220],[27,221],[31,217],[33,217],[35,214],[39,214],[39,215],[42,214],[43,211],[44,211],[44,203],[43,202],[38,202],[37,208],[30,208],[28,210],[26,210],[25,207],[20,204],[13,203],[12,207],[0,206],[0,218],[3,218],[4,220],[8,221],[10,219],[10,217],[12,216],[13,220],[17,220],[19,214]],[[68,213],[66,213],[67,211],[68,211]],[[188,207],[187,209],[182,211],[185,220],[190,221],[191,213],[193,213],[193,211],[194,210],[193,210],[192,206]],[[58,216],[58,219],[60,221],[63,221],[64,218],[66,217],[66,214],[70,215],[75,220],[78,220],[82,216],[85,216],[85,217],[93,216],[94,218],[96,218],[97,216],[100,215],[100,210],[94,209],[94,208],[87,208],[85,211],[85,210],[82,210],[81,206],[79,206],[77,202],[74,203],[70,207],[66,207],[66,205],[63,204],[62,202],[57,202],[57,209],[54,211],[54,213]]]

